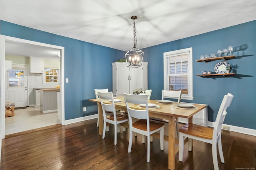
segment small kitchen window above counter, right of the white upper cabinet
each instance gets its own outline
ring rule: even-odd
[[[44,68],[44,83],[55,83],[59,82],[59,69],[56,68]]]

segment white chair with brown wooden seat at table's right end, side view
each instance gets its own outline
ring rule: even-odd
[[[228,93],[224,96],[222,103],[220,105],[216,121],[214,123],[214,128],[210,127],[204,127],[201,125],[196,125],[193,123],[189,123],[185,125],[184,127],[180,128],[180,150],[179,150],[179,161],[182,162],[183,160],[183,150],[184,150],[184,139],[188,138],[188,150],[192,150],[192,139],[203,141],[206,143],[212,144],[212,159],[213,159],[213,165],[214,170],[218,170],[218,158],[217,158],[217,144],[218,144],[218,150],[220,154],[220,160],[222,163],[224,163],[224,156],[222,151],[222,144],[221,144],[221,128],[222,123],[226,117],[226,109],[230,106],[233,95]]]

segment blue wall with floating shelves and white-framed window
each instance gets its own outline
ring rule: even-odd
[[[202,74],[203,70],[214,72],[214,66],[223,61],[196,62],[200,55],[217,53],[218,49],[228,48],[229,45],[236,47],[243,44],[248,48],[235,52],[236,59],[227,61],[232,65],[231,73],[236,73],[235,76],[196,76]],[[182,102],[208,104],[208,120],[214,122],[224,95],[232,93],[234,99],[227,109],[224,123],[256,129],[256,20],[143,49],[144,61],[148,62],[148,89],[152,89],[151,99],[161,99],[162,96],[163,53],[189,47],[193,47],[194,99]]]

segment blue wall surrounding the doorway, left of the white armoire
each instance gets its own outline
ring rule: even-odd
[[[95,98],[94,88],[112,91],[112,62],[124,58],[124,51],[0,21],[0,34],[65,47],[65,120],[97,113],[97,105],[84,102]],[[112,40],[111,40],[112,41]],[[83,112],[92,103],[94,111]],[[86,114],[85,114],[86,113]]]

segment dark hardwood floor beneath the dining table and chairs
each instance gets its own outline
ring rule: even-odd
[[[167,170],[168,142],[160,150],[159,139],[150,143],[150,163],[146,160],[146,144],[134,137],[132,152],[128,153],[128,130],[118,133],[114,146],[113,127],[105,139],[98,135],[96,119],[54,125],[24,133],[8,135],[2,140],[1,170]],[[180,124],[182,126],[182,124]],[[212,147],[194,141],[192,152],[185,145],[183,162],[175,156],[176,170],[213,170]],[[220,170],[256,168],[256,137],[222,132],[225,164]]]

